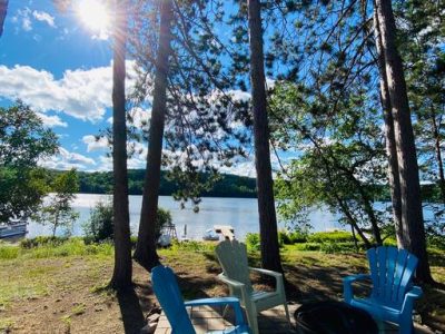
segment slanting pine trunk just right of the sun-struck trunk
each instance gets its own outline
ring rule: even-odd
[[[147,155],[147,168],[144,185],[142,208],[135,259],[150,271],[159,264],[156,253],[156,216],[158,209],[162,138],[167,112],[167,78],[171,53],[170,26],[172,2],[162,0],[160,8],[159,49],[156,56],[156,78],[151,109],[150,134]]]

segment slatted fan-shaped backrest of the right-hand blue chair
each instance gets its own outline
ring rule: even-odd
[[[373,281],[373,298],[384,305],[399,307],[412,286],[417,257],[392,246],[370,248],[367,256]]]

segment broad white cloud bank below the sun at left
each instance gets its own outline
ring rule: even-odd
[[[134,62],[127,61],[127,68],[131,73]],[[129,79],[127,91],[132,89],[132,85],[134,79]],[[82,120],[97,121],[112,105],[111,91],[111,65],[88,70],[67,70],[61,79],[29,66],[0,66],[0,97],[19,98],[41,112],[56,110]]]

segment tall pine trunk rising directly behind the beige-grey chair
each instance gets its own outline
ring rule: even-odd
[[[264,73],[261,6],[248,1],[250,39],[250,81],[254,112],[255,167],[257,170],[259,233],[263,267],[283,272],[279,257],[277,217],[271,178],[267,98]]]

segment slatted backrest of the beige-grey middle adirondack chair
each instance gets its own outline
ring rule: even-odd
[[[216,247],[216,255],[224,274],[231,279],[244,283],[247,291],[253,292],[246,245],[236,239],[226,239]]]

